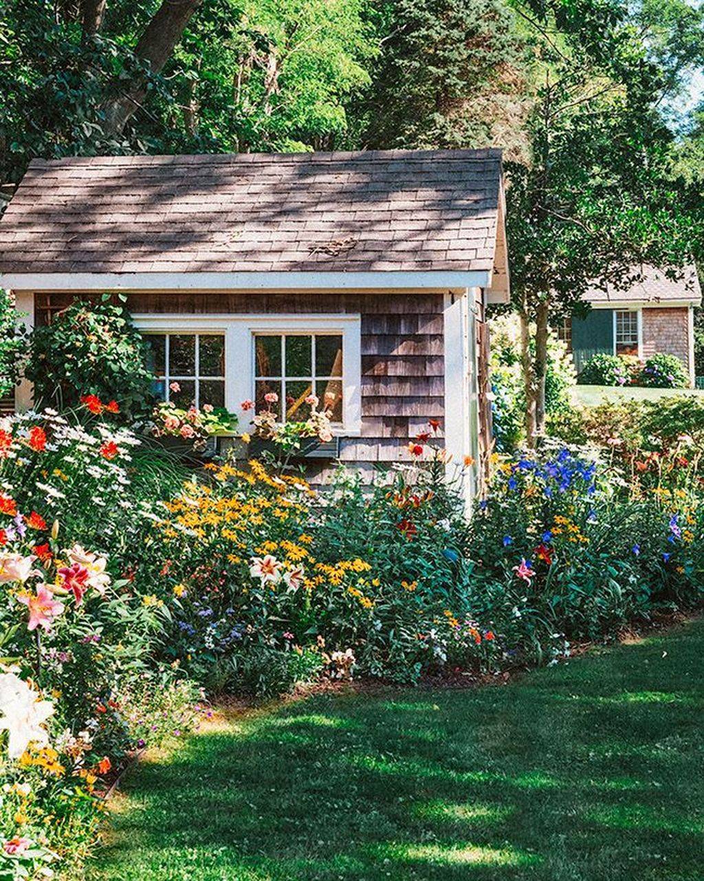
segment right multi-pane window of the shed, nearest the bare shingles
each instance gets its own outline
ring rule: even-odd
[[[315,394],[320,409],[342,424],[342,336],[340,334],[256,334],[255,396],[257,411],[271,406],[279,418],[308,418],[306,398]],[[278,403],[264,396],[274,392]]]

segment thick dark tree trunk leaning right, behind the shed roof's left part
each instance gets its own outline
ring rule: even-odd
[[[145,62],[152,73],[159,73],[174,47],[181,40],[189,20],[201,0],[163,0],[145,28],[135,47],[135,55]],[[134,82],[130,90],[103,107],[103,130],[107,136],[119,137],[130,116],[145,100],[144,81]]]

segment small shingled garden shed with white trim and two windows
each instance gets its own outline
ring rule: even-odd
[[[0,285],[29,325],[126,293],[160,393],[178,381],[179,403],[225,404],[243,430],[242,401],[314,389],[343,462],[402,461],[436,419],[462,463],[490,432],[503,213],[497,150],[35,160],[0,222]]]

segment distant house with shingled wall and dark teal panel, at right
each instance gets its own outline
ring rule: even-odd
[[[647,359],[656,352],[677,355],[694,384],[694,308],[701,305],[697,270],[691,265],[672,281],[646,267],[643,279],[626,291],[592,289],[586,318],[567,318],[559,329],[577,372],[597,352]]]

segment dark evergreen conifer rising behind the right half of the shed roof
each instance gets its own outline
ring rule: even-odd
[[[524,46],[500,0],[398,0],[378,4],[382,52],[356,107],[365,144],[465,147],[520,137],[507,117],[524,86]]]

